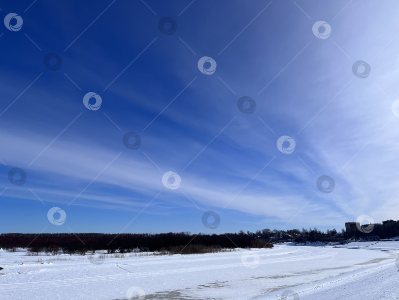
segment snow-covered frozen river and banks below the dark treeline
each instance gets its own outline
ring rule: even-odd
[[[276,245],[205,255],[107,258],[100,264],[87,256],[3,251],[0,299],[144,299],[144,293],[147,300],[399,299],[399,242],[345,247]]]

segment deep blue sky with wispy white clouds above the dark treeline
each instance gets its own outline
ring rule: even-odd
[[[16,13],[23,25],[0,30],[0,231],[398,220],[399,3],[248,3],[2,2],[2,17]],[[159,29],[164,17],[177,24],[171,35]],[[330,36],[316,37],[317,21]],[[45,67],[47,53],[62,58],[59,70]],[[217,64],[211,75],[198,68],[204,56]],[[352,72],[359,60],[371,68],[365,78]],[[100,109],[84,106],[89,92]],[[237,108],[243,96],[253,113]],[[127,132],[141,137],[138,149],[123,144]],[[295,141],[292,153],[278,150],[281,136]],[[23,185],[9,181],[14,167]],[[178,188],[163,184],[167,171]],[[316,187],[322,175],[332,192]],[[49,222],[52,207],[65,211],[62,225]],[[202,224],[206,211],[220,216],[217,228]]]

